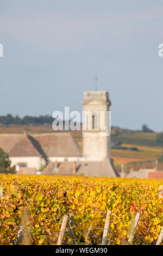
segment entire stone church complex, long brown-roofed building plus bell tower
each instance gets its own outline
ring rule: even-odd
[[[20,174],[27,174],[28,168],[29,173],[36,173],[35,169],[46,166],[42,172],[45,175],[119,176],[110,159],[110,136],[103,129],[110,105],[107,92],[84,92],[83,152],[65,131],[0,135],[0,148]]]

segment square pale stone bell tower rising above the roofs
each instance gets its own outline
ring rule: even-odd
[[[110,105],[108,92],[84,92],[83,156],[86,161],[110,160],[110,136],[106,135],[106,129],[102,129],[107,125]]]

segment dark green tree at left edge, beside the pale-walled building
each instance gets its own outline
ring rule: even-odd
[[[11,161],[9,160],[9,156],[7,153],[3,151],[2,148],[0,148],[0,173],[16,173],[15,166],[10,167]]]

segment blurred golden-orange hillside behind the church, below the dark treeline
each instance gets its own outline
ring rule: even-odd
[[[43,125],[0,125],[0,133],[45,133],[54,132],[51,124]],[[56,132],[56,131],[55,131]],[[62,132],[62,131],[58,131]],[[71,131],[72,136],[82,150],[82,131]],[[163,159],[163,133],[142,132],[119,127],[111,129],[111,157],[116,168],[121,164],[128,164],[132,168],[139,168],[141,162],[153,162]],[[133,167],[134,164],[134,167]],[[138,165],[137,165],[138,164]]]

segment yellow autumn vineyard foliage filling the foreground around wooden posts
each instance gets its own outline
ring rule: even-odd
[[[163,180],[85,178],[83,176],[1,175],[0,244],[56,245],[64,215],[74,215],[73,236],[63,244],[101,245],[106,212],[108,245],[126,245],[137,212],[134,245],[155,245],[163,225]]]

